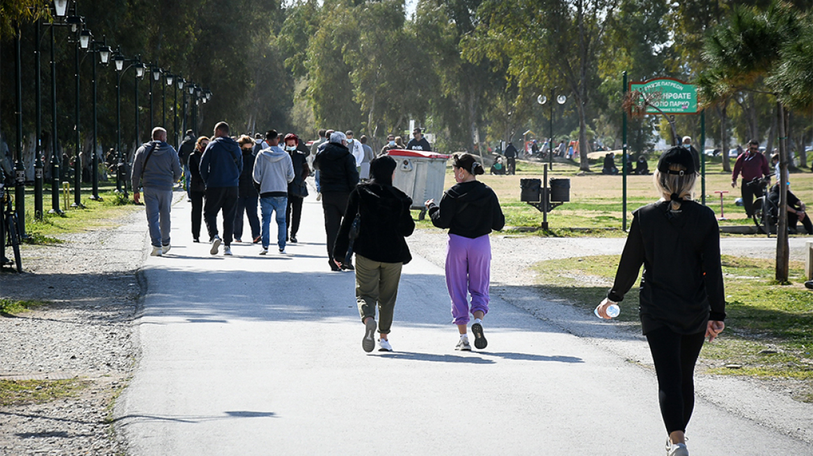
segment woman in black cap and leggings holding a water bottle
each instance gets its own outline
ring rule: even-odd
[[[688,149],[674,147],[661,156],[654,181],[663,200],[633,213],[615,284],[598,305],[598,314],[609,319],[606,308],[624,299],[644,265],[641,328],[658,376],[669,456],[689,454],[694,364],[704,338],[713,341],[725,327],[720,228],[711,209],[689,199],[697,171]]]

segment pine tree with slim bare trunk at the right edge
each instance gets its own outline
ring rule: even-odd
[[[755,7],[735,6],[728,20],[706,38],[702,58],[709,68],[697,80],[700,96],[706,105],[725,101],[739,91],[767,92],[776,96],[780,137],[780,202],[776,227],[778,282],[788,281],[789,266],[785,115],[785,102],[789,97],[778,75],[788,49],[799,45],[800,32],[805,29],[801,17],[791,8],[776,0],[764,11]],[[808,68],[806,71],[811,70]]]

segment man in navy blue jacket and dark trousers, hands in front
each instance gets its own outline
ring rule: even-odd
[[[237,141],[228,136],[228,123],[215,125],[215,139],[209,142],[201,157],[201,179],[206,183],[206,204],[203,221],[206,222],[211,240],[209,253],[217,255],[220,243],[226,247],[224,255],[232,254],[234,215],[237,213],[240,174],[243,158]],[[223,240],[217,233],[217,213],[223,210]]]

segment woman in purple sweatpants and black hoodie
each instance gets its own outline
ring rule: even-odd
[[[460,333],[455,350],[472,350],[467,333],[470,312],[474,316],[474,346],[482,350],[488,345],[483,333],[483,317],[489,312],[489,233],[502,230],[506,219],[494,191],[477,181],[476,175],[484,174],[485,169],[474,156],[455,153],[452,170],[457,185],[443,194],[440,206],[434,200],[428,200],[426,209],[434,226],[449,228],[446,287],[452,299],[454,324]],[[469,295],[472,296],[471,305]]]

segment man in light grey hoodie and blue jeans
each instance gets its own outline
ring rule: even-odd
[[[268,253],[271,243],[271,216],[276,211],[276,244],[280,253],[285,253],[285,210],[288,208],[288,184],[293,181],[293,161],[278,144],[280,136],[276,130],[265,135],[268,144],[257,154],[254,160],[254,182],[259,187],[259,205],[263,213],[263,250],[260,255]]]

